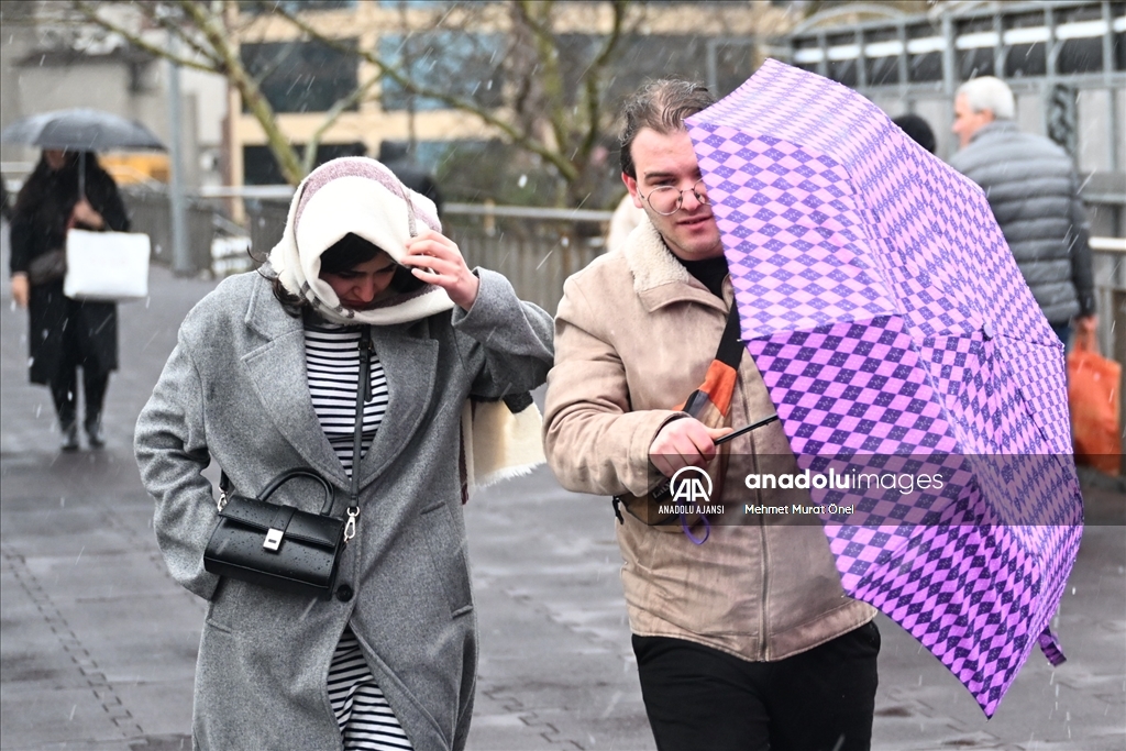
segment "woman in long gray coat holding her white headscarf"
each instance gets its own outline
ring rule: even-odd
[[[462,518],[472,442],[500,426],[493,436],[510,442],[477,455],[508,466],[488,468],[535,462],[535,408],[513,417],[497,400],[543,383],[552,320],[500,275],[471,272],[437,230],[432,204],[374,160],[314,170],[266,271],[223,281],[188,314],[138,419],[137,462],[157,502],[161,551],[176,580],[209,601],[197,749],[465,743],[476,671]],[[354,470],[364,328],[374,397]],[[486,400],[515,429],[481,424],[489,410],[468,409],[470,400]],[[338,517],[358,473],[356,536],[331,599],[204,570],[217,521],[202,474],[212,461],[243,495],[284,471],[312,468],[334,486]],[[321,504],[304,481],[270,500],[306,511]]]

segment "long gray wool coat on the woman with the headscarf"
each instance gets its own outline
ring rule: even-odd
[[[211,461],[235,492],[312,467],[349,480],[320,428],[305,374],[302,321],[257,274],[223,281],[185,319],[137,420],[141,476],[172,576],[209,600],[196,670],[193,739],[216,751],[341,748],[325,685],[346,624],[419,751],[465,744],[476,673],[458,455],[468,395],[526,392],[552,365],[552,319],[504,277],[479,271],[466,313],[373,327],[390,403],[359,463],[357,536],[337,578],[355,596],[316,600],[220,580],[203,567],[216,524]],[[319,511],[321,491],[287,483],[271,501]]]

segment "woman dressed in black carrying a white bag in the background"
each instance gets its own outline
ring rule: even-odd
[[[129,221],[117,185],[92,152],[45,149],[12,212],[11,294],[28,310],[30,381],[50,386],[66,452],[79,447],[78,368],[91,448],[105,445],[101,409],[109,373],[117,369],[117,305],[63,295],[71,227],[124,232]]]

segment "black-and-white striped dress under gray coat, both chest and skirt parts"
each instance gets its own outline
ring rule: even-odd
[[[313,410],[348,476],[352,472],[356,390],[359,382],[357,327],[305,323],[305,369]],[[387,378],[377,352],[370,355],[372,400],[364,404],[360,458],[387,410]],[[411,742],[346,627],[329,665],[329,700],[348,751],[409,751]]]

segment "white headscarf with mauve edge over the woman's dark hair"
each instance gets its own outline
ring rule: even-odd
[[[387,325],[417,321],[448,311],[454,302],[435,285],[393,295],[372,309],[345,307],[321,279],[321,254],[351,232],[397,263],[418,226],[441,231],[434,203],[414,193],[386,167],[365,157],[333,159],[310,172],[297,186],[282,240],[270,251],[270,266],[282,286],[307,299],[334,323]]]

